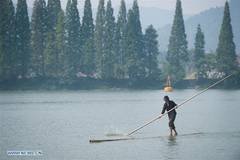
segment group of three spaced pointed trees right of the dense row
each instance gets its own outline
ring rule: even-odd
[[[239,70],[228,2],[225,3],[216,55],[205,53],[204,33],[201,26],[198,25],[195,48],[191,58],[187,48],[181,1],[177,0],[167,52],[167,73],[175,81],[183,79],[186,76],[186,69],[189,67],[187,64],[190,59],[193,60],[197,78],[209,78],[209,75],[213,73],[221,77]]]

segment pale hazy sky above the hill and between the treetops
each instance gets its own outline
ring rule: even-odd
[[[14,0],[17,1],[17,0]],[[29,5],[33,4],[34,0],[27,0]],[[78,0],[79,8],[82,8],[85,0]],[[94,8],[97,8],[99,0],[91,0]],[[107,0],[106,0],[107,1]],[[119,6],[121,0],[112,0],[113,6]],[[125,0],[128,7],[133,0]],[[195,14],[211,7],[223,6],[226,0],[182,0],[184,14]],[[62,7],[65,8],[67,0],[61,0]],[[141,7],[157,7],[166,10],[174,10],[176,0],[138,0]]]

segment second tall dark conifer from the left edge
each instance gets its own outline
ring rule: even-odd
[[[26,0],[18,0],[16,10],[16,60],[17,75],[26,77],[30,62],[30,22]]]

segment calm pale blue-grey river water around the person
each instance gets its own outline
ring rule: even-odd
[[[197,90],[168,94],[177,104]],[[209,90],[177,110],[179,136],[168,119],[136,140],[90,144],[89,137],[124,134],[157,116],[161,90],[0,92],[1,160],[239,160],[240,91]],[[35,156],[9,151],[40,151]]]

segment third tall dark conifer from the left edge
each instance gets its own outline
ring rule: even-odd
[[[37,77],[45,76],[44,49],[46,47],[46,2],[35,0],[31,21],[31,68]]]

